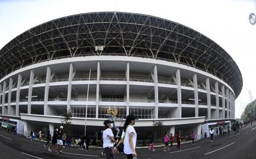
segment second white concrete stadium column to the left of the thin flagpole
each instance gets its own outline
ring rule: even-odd
[[[49,83],[51,81],[52,69],[47,66],[46,72],[46,87],[44,87],[44,115],[49,115],[48,97],[49,97]]]

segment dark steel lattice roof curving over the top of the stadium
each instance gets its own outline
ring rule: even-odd
[[[71,15],[23,32],[0,50],[0,77],[56,58],[104,55],[188,65],[225,81],[236,97],[242,90],[240,69],[220,45],[182,24],[127,12]]]

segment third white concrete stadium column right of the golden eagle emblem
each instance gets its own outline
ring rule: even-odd
[[[176,118],[181,118],[181,81],[180,81],[180,69],[176,70],[176,83],[177,83],[177,111]]]

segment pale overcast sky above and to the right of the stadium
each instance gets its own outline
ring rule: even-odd
[[[201,32],[225,49],[236,61],[243,89],[236,99],[236,118],[256,95],[256,0],[0,0],[0,49],[22,32],[52,19],[96,11],[136,12],[158,16]]]

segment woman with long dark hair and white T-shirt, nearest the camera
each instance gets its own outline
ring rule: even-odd
[[[137,153],[135,152],[137,133],[133,127],[133,125],[135,124],[135,119],[136,118],[133,115],[128,115],[126,117],[125,124],[123,125],[123,152],[126,154],[128,159],[137,157]],[[118,145],[120,143],[121,142],[119,142]]]

